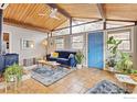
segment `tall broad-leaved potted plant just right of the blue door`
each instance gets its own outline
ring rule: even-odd
[[[106,67],[108,70],[115,70],[115,66],[117,64],[117,57],[119,54],[118,45],[122,43],[119,39],[115,39],[113,36],[108,38],[107,45],[108,45],[108,56],[106,59]]]

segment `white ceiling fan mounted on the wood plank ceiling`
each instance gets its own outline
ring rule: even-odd
[[[45,16],[46,14],[45,13],[39,13],[39,15],[40,16]],[[56,8],[51,9],[51,13],[50,13],[49,16],[52,18],[52,19],[60,20],[60,18],[57,18],[57,9]]]

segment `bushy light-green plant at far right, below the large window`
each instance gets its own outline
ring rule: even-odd
[[[116,64],[117,70],[123,73],[133,73],[133,61],[127,53],[120,53],[120,59]]]

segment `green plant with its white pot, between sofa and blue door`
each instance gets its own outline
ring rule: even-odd
[[[81,69],[82,66],[83,66],[82,64],[83,64],[83,59],[84,59],[83,53],[78,50],[78,52],[76,53],[76,55],[75,55],[75,59],[76,59],[76,63],[77,63],[76,67],[77,67],[78,69]]]

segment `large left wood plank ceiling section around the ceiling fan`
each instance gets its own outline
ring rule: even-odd
[[[39,15],[40,13],[45,14],[44,16]],[[57,25],[66,21],[66,18],[57,13],[61,20],[51,19],[49,15],[51,8],[46,4],[10,4],[3,13],[4,22],[13,23],[18,25],[24,25],[27,27],[32,26],[39,30],[51,31]]]

